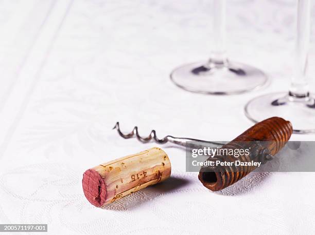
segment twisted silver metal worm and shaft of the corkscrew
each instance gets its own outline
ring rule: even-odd
[[[149,141],[153,140],[158,144],[165,144],[167,142],[170,142],[170,143],[188,147],[188,148],[199,148],[205,145],[207,147],[212,147],[212,148],[223,146],[222,143],[218,143],[218,142],[197,140],[197,139],[191,139],[191,138],[177,138],[171,135],[167,135],[163,139],[158,139],[156,137],[155,130],[152,130],[148,137],[143,138],[142,136],[139,135],[138,127],[136,126],[133,128],[133,130],[129,134],[124,134],[120,131],[119,122],[116,123],[113,129],[116,129],[118,134],[124,139],[130,139],[130,138],[133,138],[133,136],[136,136],[137,140],[142,143],[148,143]]]

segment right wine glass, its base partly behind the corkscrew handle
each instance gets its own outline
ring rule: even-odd
[[[298,0],[295,56],[291,86],[288,92],[258,96],[245,106],[247,117],[259,122],[270,116],[281,116],[292,123],[295,133],[315,132],[315,100],[306,79],[310,37],[310,0]]]

